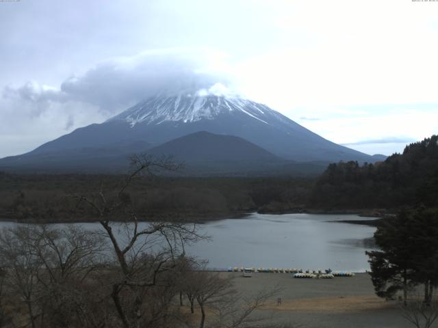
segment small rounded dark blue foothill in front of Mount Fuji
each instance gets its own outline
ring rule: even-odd
[[[172,155],[188,175],[316,175],[328,163],[296,163],[281,159],[243,138],[205,131],[185,135],[148,150]]]

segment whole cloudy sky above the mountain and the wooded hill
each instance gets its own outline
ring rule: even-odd
[[[438,1],[0,1],[0,156],[220,82],[369,154],[438,133]]]

